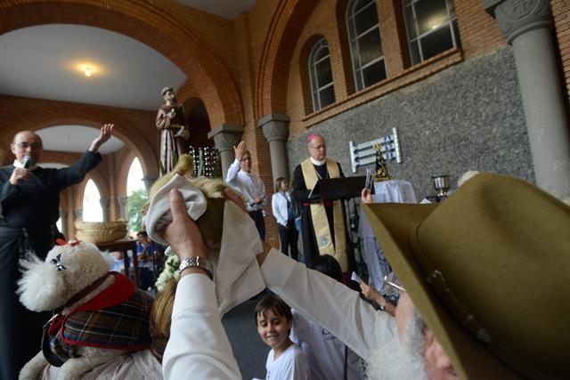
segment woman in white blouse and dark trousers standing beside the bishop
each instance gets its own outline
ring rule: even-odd
[[[291,258],[298,259],[297,238],[298,232],[295,228],[295,213],[288,191],[289,183],[286,178],[279,177],[275,180],[275,193],[271,199],[271,209],[273,217],[277,220],[277,231],[281,240],[281,252]]]

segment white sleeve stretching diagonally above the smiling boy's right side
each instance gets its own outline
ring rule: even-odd
[[[364,359],[395,337],[395,319],[387,312],[377,312],[354,290],[306,269],[274,248],[265,258],[261,273],[265,285],[291,308],[329,330]]]

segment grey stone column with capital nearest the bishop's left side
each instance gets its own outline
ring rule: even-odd
[[[290,119],[287,115],[269,114],[257,121],[257,125],[261,127],[265,139],[269,142],[273,182],[275,182],[279,177],[289,178],[289,171],[287,168],[287,136],[289,134],[289,120]]]

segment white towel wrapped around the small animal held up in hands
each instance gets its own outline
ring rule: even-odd
[[[170,182],[157,191],[151,199],[151,206],[146,214],[147,233],[154,241],[164,241],[157,226],[166,226],[167,223],[172,222],[168,198],[171,189],[181,191],[186,207],[189,209],[188,214],[193,220],[204,214],[206,208],[206,198],[201,191],[191,182],[176,174]],[[199,205],[193,205],[192,199]],[[203,202],[204,211],[193,217],[195,213],[191,212],[191,209],[199,210],[201,202]],[[192,208],[193,206],[196,207]],[[214,282],[220,315],[224,315],[265,288],[265,282],[256,261],[256,255],[262,250],[256,223],[239,206],[227,200],[224,205],[220,255],[217,263],[216,258],[210,258],[216,268]]]

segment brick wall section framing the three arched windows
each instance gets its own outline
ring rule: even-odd
[[[336,6],[331,6],[334,4]],[[388,78],[358,93],[354,92],[350,51],[346,42],[346,1],[322,1],[315,6],[297,40],[289,41],[290,44],[295,44],[290,61],[277,61],[276,67],[273,68],[285,71],[283,66],[290,65],[287,83],[273,83],[273,85],[281,85],[286,89],[285,108],[291,117],[289,125],[291,136],[303,134],[306,128],[321,123],[329,117],[506,44],[496,22],[485,12],[479,0],[456,0],[461,48],[452,49],[428,61],[410,66],[400,4],[399,0],[377,2]],[[329,43],[336,96],[335,103],[317,112],[312,111],[310,83],[306,74],[308,57],[306,52],[310,51],[310,46],[307,47],[306,43],[313,44],[314,36],[324,36]],[[275,99],[278,98],[275,95]]]

